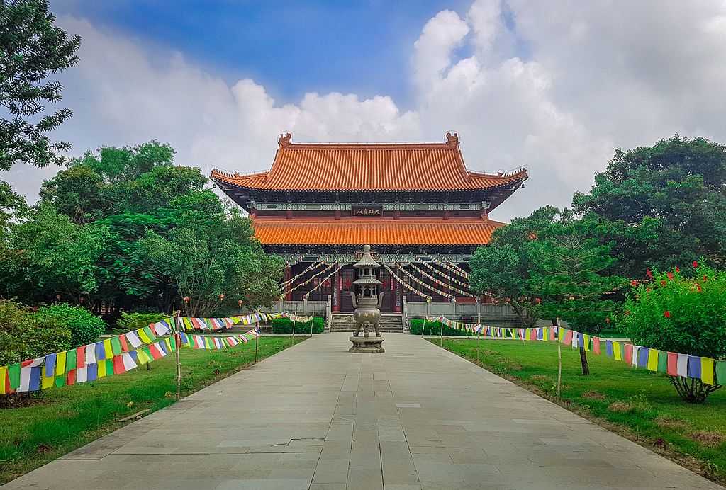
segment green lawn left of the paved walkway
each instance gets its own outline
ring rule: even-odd
[[[258,358],[292,344],[290,337],[261,337]],[[213,351],[182,349],[181,394],[247,368],[254,359],[254,341]],[[176,365],[174,355],[168,355],[152,362],[151,370],[140,366],[92,383],[49,389],[28,406],[0,410],[0,484],[124,425],[115,420],[175,401]]]

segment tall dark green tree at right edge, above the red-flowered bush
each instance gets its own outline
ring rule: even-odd
[[[613,243],[611,272],[642,278],[706,256],[726,263],[726,146],[673,136],[616,150],[595,186],[576,193],[600,243]]]

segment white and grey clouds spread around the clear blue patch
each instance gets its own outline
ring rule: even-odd
[[[442,141],[457,130],[471,169],[529,167],[527,188],[494,215],[507,219],[567,205],[616,146],[675,132],[726,140],[724,2],[477,0],[462,14],[444,10],[412,46],[409,112],[388,96],[280,104],[253,80],[230,86],[163,47],[62,23],[83,36],[82,62],[63,80],[75,115],[58,131],[76,152],[157,138],[180,164],[246,172],[269,167],[287,130],[295,141]],[[53,172],[15,167],[9,180],[33,196]]]

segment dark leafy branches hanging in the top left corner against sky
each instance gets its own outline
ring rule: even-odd
[[[48,78],[76,65],[79,46],[81,38],[55,25],[47,0],[0,0],[0,104],[11,116],[0,118],[0,170],[16,162],[45,167],[63,161],[57,151],[70,144],[52,142],[48,133],[72,111],[46,113],[63,88]]]

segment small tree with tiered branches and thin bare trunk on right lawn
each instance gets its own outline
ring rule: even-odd
[[[532,264],[529,287],[541,298],[539,315],[561,318],[586,333],[597,333],[611,321],[619,304],[613,299],[625,280],[603,275],[615,261],[612,244],[601,245],[589,234],[589,221],[564,209],[529,243]],[[587,353],[579,346],[582,374],[590,374]]]

